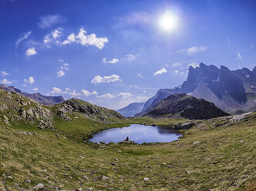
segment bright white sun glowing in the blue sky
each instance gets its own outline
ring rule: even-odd
[[[170,32],[174,28],[176,28],[177,24],[178,18],[176,17],[176,15],[172,15],[169,12],[159,18],[160,27],[167,32]]]

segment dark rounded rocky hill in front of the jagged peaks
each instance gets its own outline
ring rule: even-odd
[[[215,106],[212,102],[182,93],[172,94],[166,99],[162,99],[162,101],[149,109],[144,116],[154,118],[183,117],[186,119],[210,119],[230,115]]]

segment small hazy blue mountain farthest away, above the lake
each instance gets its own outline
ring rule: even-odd
[[[122,109],[119,109],[117,112],[121,113],[121,115],[125,117],[132,117],[135,116],[136,113],[142,111],[144,104],[145,102],[134,102]]]

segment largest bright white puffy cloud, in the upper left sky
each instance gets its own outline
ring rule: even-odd
[[[70,34],[67,37],[67,40],[65,40],[62,44],[67,45],[72,42],[77,42],[77,44],[80,45],[94,45],[98,49],[103,49],[105,43],[108,42],[107,38],[97,38],[97,36],[94,33],[90,35],[85,35],[86,33],[87,32],[84,30],[84,28],[80,28],[80,32],[77,35],[75,35],[74,33]]]

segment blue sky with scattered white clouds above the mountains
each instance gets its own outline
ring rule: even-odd
[[[0,80],[120,109],[181,85],[189,65],[253,69],[255,10],[253,0],[0,0]]]

